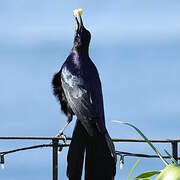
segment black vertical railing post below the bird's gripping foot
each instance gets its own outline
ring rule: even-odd
[[[53,139],[53,180],[58,180],[58,139]]]

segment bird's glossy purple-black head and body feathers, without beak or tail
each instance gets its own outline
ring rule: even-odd
[[[68,121],[75,114],[93,135],[95,126],[101,133],[105,133],[106,128],[101,82],[88,54],[90,38],[90,32],[81,24],[76,30],[73,48],[52,84]]]

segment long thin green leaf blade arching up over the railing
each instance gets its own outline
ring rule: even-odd
[[[113,122],[116,122],[116,123],[121,123],[121,124],[125,124],[125,125],[128,125],[132,128],[134,128],[138,133],[139,135],[150,145],[150,147],[154,150],[154,152],[159,156],[159,158],[163,161],[163,163],[167,166],[168,165],[168,162],[162,157],[162,155],[160,154],[160,152],[154,147],[154,145],[149,141],[149,139],[140,131],[140,129],[138,129],[136,126],[130,124],[130,123],[127,123],[127,122],[123,122],[123,121],[113,121]]]

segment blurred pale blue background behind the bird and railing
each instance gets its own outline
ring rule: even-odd
[[[91,31],[90,56],[103,86],[111,137],[139,138],[124,120],[149,138],[180,138],[180,1],[1,0],[0,136],[54,136],[65,116],[52,94],[51,80],[71,50],[73,9],[84,9]],[[71,136],[75,120],[65,134]],[[42,141],[0,141],[0,151]],[[169,145],[157,145],[160,150]],[[146,144],[116,144],[121,151],[153,153]],[[3,180],[49,180],[50,149],[8,155]],[[67,149],[59,157],[59,179],[66,178]],[[116,180],[126,179],[137,158],[117,163]],[[141,159],[133,177],[161,169],[159,160]],[[132,178],[133,179],[133,178]]]

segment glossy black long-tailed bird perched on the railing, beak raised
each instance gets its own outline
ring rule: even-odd
[[[84,27],[81,16],[80,22],[77,17],[75,19],[77,28],[73,48],[52,81],[54,95],[58,98],[61,110],[67,116],[67,121],[70,122],[73,115],[77,117],[68,153],[67,174],[70,179],[81,178],[84,150],[86,149],[86,179],[112,180],[115,175],[116,155],[105,126],[101,81],[97,68],[89,57],[91,34]],[[98,146],[103,149],[102,153],[104,152],[102,162],[96,161],[99,156],[97,154]],[[94,162],[92,162],[93,157]],[[98,167],[98,171],[94,170],[94,163],[104,166],[101,173],[100,167]],[[103,163],[107,164],[106,167]],[[104,177],[106,173],[103,171],[107,171],[108,166],[110,175]],[[98,173],[101,175],[97,175]]]

